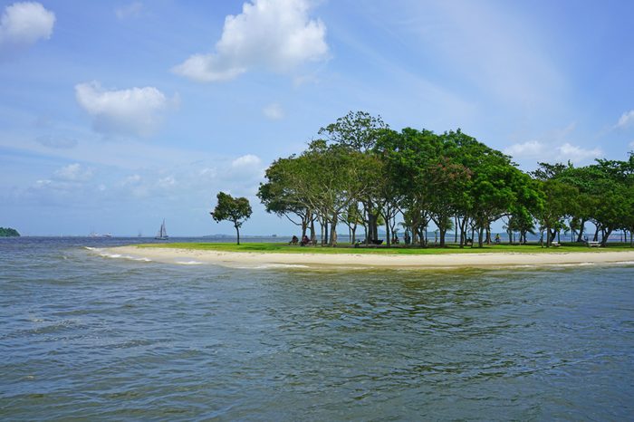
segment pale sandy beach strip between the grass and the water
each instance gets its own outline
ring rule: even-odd
[[[634,251],[544,254],[258,254],[174,248],[119,246],[100,251],[110,257],[168,264],[218,264],[238,267],[453,268],[634,263]]]

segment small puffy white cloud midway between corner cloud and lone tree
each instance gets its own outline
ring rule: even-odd
[[[77,102],[92,116],[92,127],[106,134],[147,137],[154,133],[173,101],[154,87],[105,91],[99,82],[75,85]]]

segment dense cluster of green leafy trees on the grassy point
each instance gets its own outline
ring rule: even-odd
[[[590,235],[605,245],[615,230],[634,232],[634,155],[627,161],[540,163],[532,173],[512,158],[460,129],[442,134],[427,129],[400,131],[357,111],[319,130],[299,155],[279,158],[266,170],[258,197],[268,212],[287,217],[322,245],[337,244],[337,225],[347,225],[351,243],[360,227],[366,244],[385,241],[398,222],[412,244],[427,245],[435,225],[439,245],[448,230],[459,244],[491,242],[491,225],[502,219],[510,242],[526,243],[540,232],[550,246],[561,233],[581,242]],[[585,233],[592,223],[596,231]]]

